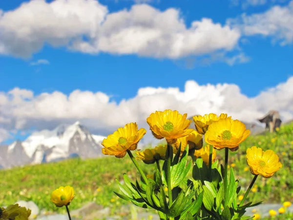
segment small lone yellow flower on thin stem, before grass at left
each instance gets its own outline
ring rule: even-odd
[[[51,201],[57,206],[69,205],[74,198],[74,190],[71,186],[61,186],[54,190],[51,195]]]

